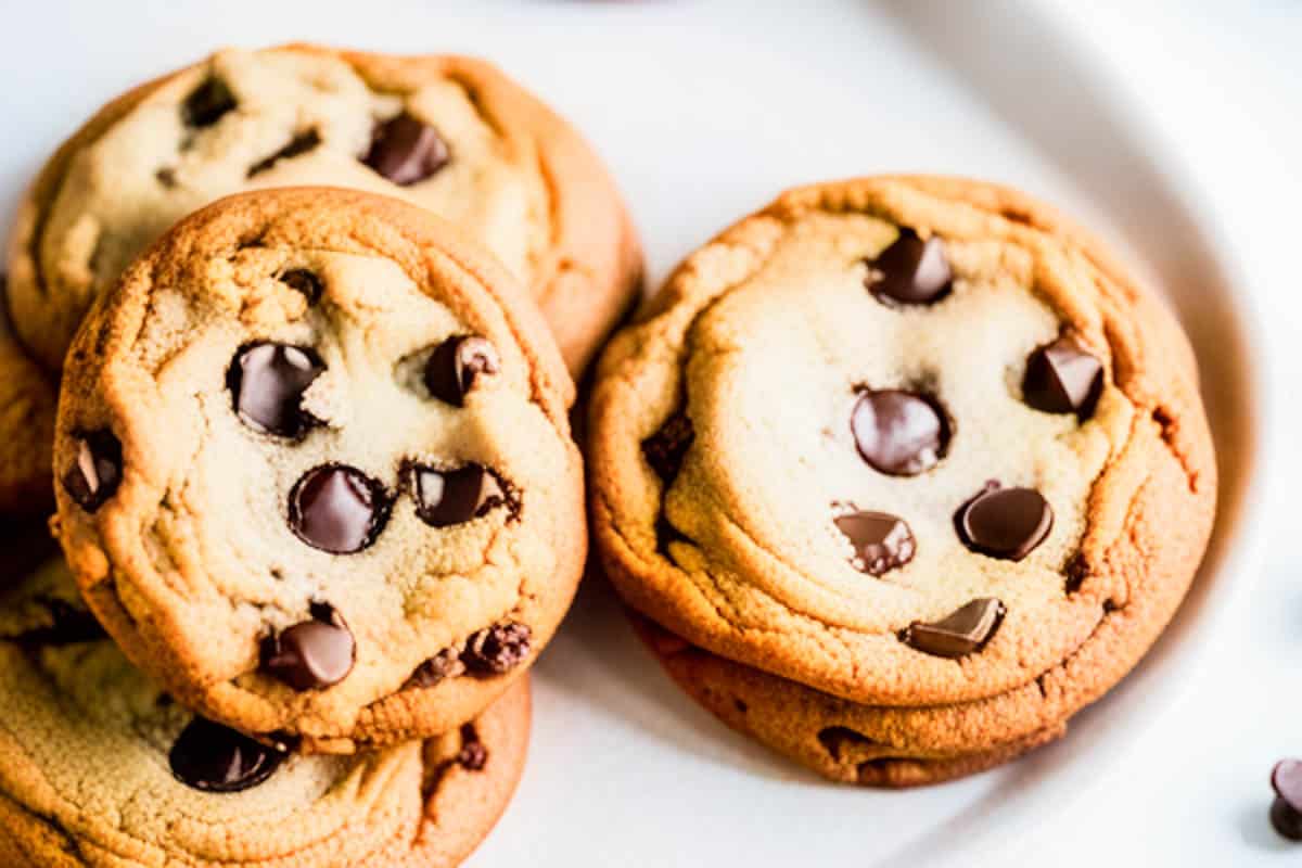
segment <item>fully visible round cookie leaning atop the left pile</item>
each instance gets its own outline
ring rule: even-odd
[[[206,717],[309,751],[443,733],[578,583],[572,396],[527,295],[427,211],[232,197],[78,332],[60,541],[126,656]]]

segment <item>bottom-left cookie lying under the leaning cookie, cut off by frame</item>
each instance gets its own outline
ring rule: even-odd
[[[450,734],[281,755],[194,717],[78,609],[61,561],[0,610],[0,863],[450,867],[523,769],[529,681]]]

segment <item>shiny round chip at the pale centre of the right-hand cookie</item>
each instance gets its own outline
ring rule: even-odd
[[[931,470],[949,446],[949,423],[940,407],[898,389],[861,393],[850,431],[863,461],[892,476]]]

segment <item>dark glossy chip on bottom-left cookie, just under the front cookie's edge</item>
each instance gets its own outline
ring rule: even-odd
[[[195,717],[172,744],[168,761],[172,774],[186,786],[204,793],[238,793],[270,778],[285,755]]]

